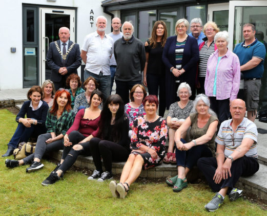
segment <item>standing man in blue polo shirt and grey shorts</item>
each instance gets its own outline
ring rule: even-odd
[[[234,53],[239,58],[240,70],[244,75],[244,95],[247,106],[247,117],[254,122],[256,118],[259,92],[263,75],[263,62],[266,55],[265,46],[255,38],[255,26],[243,25],[244,42],[236,45]]]

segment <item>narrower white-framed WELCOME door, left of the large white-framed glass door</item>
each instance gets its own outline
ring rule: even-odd
[[[215,22],[220,31],[228,31],[228,17],[229,3],[208,5],[208,21]]]

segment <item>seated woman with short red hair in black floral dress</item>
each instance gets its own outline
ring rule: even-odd
[[[112,195],[121,199],[125,198],[130,185],[140,175],[142,168],[160,165],[165,155],[168,129],[166,120],[156,113],[158,99],[155,95],[148,95],[143,100],[143,105],[147,115],[139,116],[134,121],[130,145],[132,152],[122,170],[120,183],[110,182]]]

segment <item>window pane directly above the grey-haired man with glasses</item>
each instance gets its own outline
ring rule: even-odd
[[[186,19],[188,22],[190,23],[194,18],[200,18],[203,25],[207,22],[206,5],[186,7]]]

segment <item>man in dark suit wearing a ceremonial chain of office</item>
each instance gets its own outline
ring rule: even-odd
[[[79,45],[69,40],[70,29],[61,27],[58,36],[59,40],[50,43],[47,52],[47,65],[51,69],[51,80],[56,90],[67,88],[68,76],[77,74],[77,68],[81,65]]]

